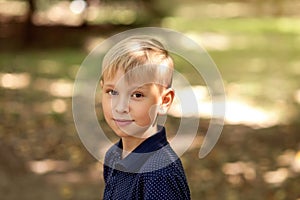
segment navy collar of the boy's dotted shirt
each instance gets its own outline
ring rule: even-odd
[[[124,159],[120,159],[115,163],[115,168],[120,171],[138,172],[147,159],[152,156],[157,150],[168,145],[166,132],[164,127],[158,127],[159,131],[143,141]],[[116,144],[122,153],[122,140]]]

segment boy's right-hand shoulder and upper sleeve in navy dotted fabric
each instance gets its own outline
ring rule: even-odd
[[[149,158],[140,171],[146,199],[190,199],[181,160],[171,147]]]

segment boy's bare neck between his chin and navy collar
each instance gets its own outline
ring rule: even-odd
[[[122,152],[122,158],[125,158],[130,154],[136,147],[138,147],[143,141],[145,141],[147,138],[151,137],[155,133],[157,133],[158,128],[157,126],[153,126],[149,128],[142,137],[134,137],[134,136],[127,136],[122,137],[122,146],[123,146],[123,152]]]

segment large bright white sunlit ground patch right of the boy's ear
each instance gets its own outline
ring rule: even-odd
[[[189,102],[190,98],[196,98],[198,110],[194,108],[194,105],[190,107],[186,106],[185,109],[182,109],[181,101],[175,99],[169,114],[175,117],[201,117],[207,119],[218,117],[224,119],[225,124],[244,124],[253,128],[266,128],[283,123],[279,119],[280,113],[283,112],[281,108],[266,110],[257,107],[254,102],[247,102],[247,100],[231,96],[227,96],[226,103],[224,104],[225,115],[220,116],[220,111],[218,112],[218,110],[213,115],[212,105],[218,105],[222,102],[212,102],[204,86],[193,86],[193,91],[195,92],[194,96],[185,95],[186,91],[184,89],[176,91],[176,94],[183,96],[181,99],[183,102]]]

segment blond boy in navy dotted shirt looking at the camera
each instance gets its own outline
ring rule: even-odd
[[[120,137],[105,155],[103,199],[190,199],[181,161],[157,125],[174,99],[172,58],[139,36],[117,43],[102,64],[103,113]]]

